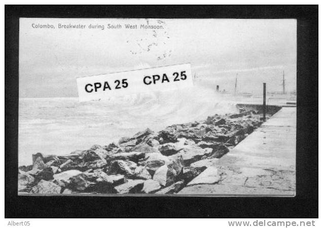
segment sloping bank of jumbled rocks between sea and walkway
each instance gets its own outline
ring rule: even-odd
[[[18,192],[175,194],[261,123],[255,111],[240,109],[66,156],[38,153],[32,165],[19,167]]]

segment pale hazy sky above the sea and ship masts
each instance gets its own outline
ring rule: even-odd
[[[85,28],[58,28],[58,24]],[[37,25],[55,28],[35,28]],[[89,25],[104,25],[89,28]],[[108,29],[107,24],[122,28]],[[137,28],[125,28],[125,24]],[[140,25],[159,25],[143,29]],[[267,82],[296,89],[296,20],[290,19],[20,19],[20,97],[78,96],[76,78],[191,63],[192,73],[221,89],[253,92]],[[259,87],[261,88],[261,86]]]

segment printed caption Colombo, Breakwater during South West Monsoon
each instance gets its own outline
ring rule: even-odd
[[[162,22],[161,22],[162,23]],[[130,24],[130,23],[102,23],[102,24],[52,24],[52,23],[32,23],[34,29],[164,29],[163,24]]]

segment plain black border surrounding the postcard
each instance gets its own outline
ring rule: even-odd
[[[17,195],[19,17],[295,18],[297,22],[297,196],[32,197]],[[5,6],[6,218],[317,218],[318,6]]]

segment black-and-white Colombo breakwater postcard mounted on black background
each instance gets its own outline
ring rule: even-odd
[[[296,28],[20,18],[18,194],[294,197]]]

